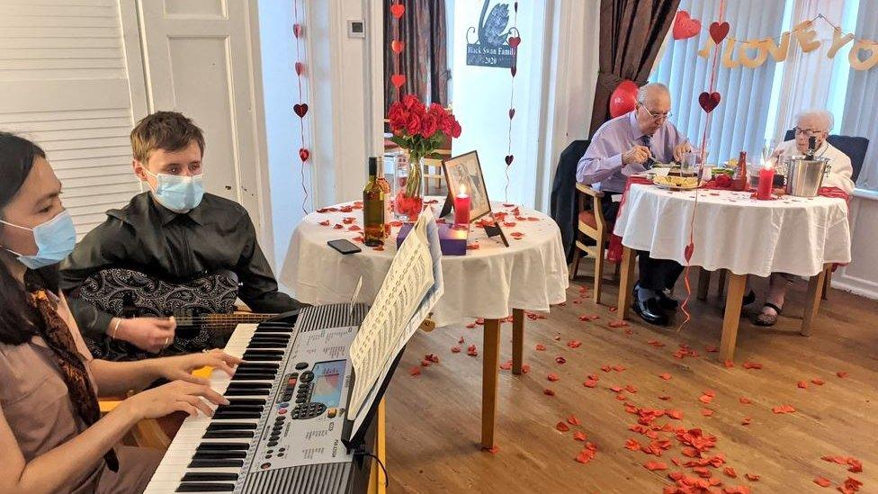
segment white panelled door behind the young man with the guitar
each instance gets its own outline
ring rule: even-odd
[[[255,0],[137,0],[149,112],[204,130],[207,192],[244,205],[273,259]]]

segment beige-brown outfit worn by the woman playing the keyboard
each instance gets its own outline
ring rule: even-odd
[[[67,302],[58,301],[58,313],[67,321],[83,359],[91,360],[85,342],[70,315]],[[94,380],[92,382],[94,386]],[[28,462],[62,445],[85,430],[67,395],[67,385],[52,351],[42,337],[12,346],[0,343],[0,411],[13,430]],[[141,492],[161,462],[162,452],[117,445],[119,472],[111,472],[103,458],[63,492]]]

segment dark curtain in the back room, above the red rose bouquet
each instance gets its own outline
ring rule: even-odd
[[[397,101],[397,88],[390,84],[394,73],[404,74],[406,84],[399,94],[417,94],[426,104],[448,105],[448,55],[446,53],[445,1],[406,0],[406,12],[397,21],[390,5],[398,0],[384,0],[384,114]],[[399,27],[398,27],[399,26]],[[399,29],[399,35],[397,30]],[[390,50],[391,40],[405,43],[399,54]],[[396,72],[399,70],[399,72]]]

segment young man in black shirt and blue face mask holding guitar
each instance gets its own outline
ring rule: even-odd
[[[162,280],[224,270],[237,275],[237,296],[250,309],[278,313],[300,308],[278,291],[244,207],[203,192],[202,130],[178,112],[156,112],[139,121],[130,138],[134,175],[149,191],[107,211],[107,220],[61,265],[61,289],[86,339],[109,337],[153,354],[175,341],[173,317],[122,319],[79,298],[89,277],[108,268],[134,269]],[[159,310],[161,315],[171,312]]]

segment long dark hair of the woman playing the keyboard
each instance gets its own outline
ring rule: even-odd
[[[46,157],[39,146],[9,132],[0,132],[0,219],[3,219],[3,209],[31,174],[37,157]],[[0,229],[4,228],[9,227],[0,223]],[[58,292],[58,265],[28,270],[25,283],[29,289],[45,287]],[[0,262],[0,343],[21,345],[30,341],[38,324],[41,324],[39,316],[28,303],[24,287]]]

